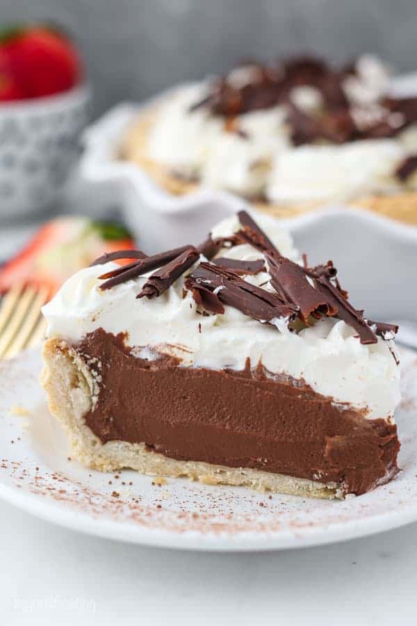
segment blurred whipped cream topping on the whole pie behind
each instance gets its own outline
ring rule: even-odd
[[[243,87],[255,81],[259,71],[256,65],[236,67],[227,80]],[[361,194],[402,188],[395,171],[403,159],[417,152],[415,131],[407,133],[405,141],[398,134],[352,144],[295,147],[284,105],[236,115],[231,128],[204,106],[193,109],[209,86],[209,81],[204,81],[179,88],[158,109],[148,137],[149,157],[174,175],[275,204],[350,201]],[[355,73],[343,81],[359,128],[386,115],[377,102],[388,88],[387,67],[375,56],[359,57]],[[290,97],[306,113],[323,106],[322,95],[313,86],[297,86]],[[403,121],[400,113],[389,116],[393,128]],[[414,188],[416,177],[407,185]]]

